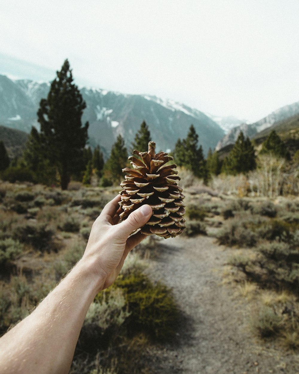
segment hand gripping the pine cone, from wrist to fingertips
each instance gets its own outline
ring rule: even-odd
[[[82,258],[91,261],[92,272],[99,279],[99,291],[115,281],[127,254],[146,237],[141,232],[129,235],[147,223],[152,214],[149,205],[142,205],[119,223],[119,201],[120,195],[105,206],[93,223]]]

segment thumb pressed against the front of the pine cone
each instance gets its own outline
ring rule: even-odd
[[[135,230],[139,229],[141,226],[147,223],[149,218],[152,215],[152,208],[145,204],[142,205],[140,208],[133,211],[128,218],[121,222],[120,224],[116,225],[118,230],[120,230],[124,239]]]

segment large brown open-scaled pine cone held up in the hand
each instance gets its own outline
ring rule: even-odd
[[[176,184],[181,178],[176,175],[175,164],[163,166],[173,157],[164,152],[155,154],[155,142],[152,141],[148,143],[148,152],[134,150],[133,154],[140,159],[130,156],[134,169],[123,169],[127,175],[120,184],[123,188],[119,202],[123,210],[121,220],[125,220],[139,206],[148,204],[153,212],[141,227],[143,234],[156,234],[165,239],[181,234],[185,229],[185,205],[182,201],[185,196],[182,188]]]

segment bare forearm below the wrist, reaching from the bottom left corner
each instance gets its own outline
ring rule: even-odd
[[[99,288],[101,280],[81,260],[30,316],[0,339],[0,373],[68,373]]]

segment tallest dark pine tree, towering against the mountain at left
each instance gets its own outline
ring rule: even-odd
[[[81,127],[86,103],[73,83],[68,60],[64,61],[61,71],[56,74],[47,99],[40,101],[37,116],[41,144],[47,159],[57,167],[61,188],[65,190],[71,174],[78,172],[87,141],[88,122]]]

